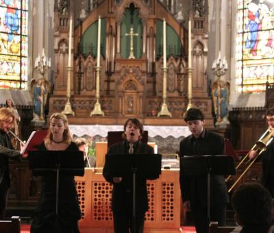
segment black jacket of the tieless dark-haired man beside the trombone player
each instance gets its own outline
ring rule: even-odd
[[[180,156],[197,155],[223,155],[225,152],[225,141],[222,136],[206,130],[204,138],[201,140],[201,151],[193,154],[191,139],[192,135],[184,138],[180,143]],[[185,174],[182,164],[180,164],[180,186],[184,201],[199,201],[203,206],[207,206],[207,176],[188,176]],[[228,203],[229,197],[223,175],[212,175],[210,180],[210,203]]]

